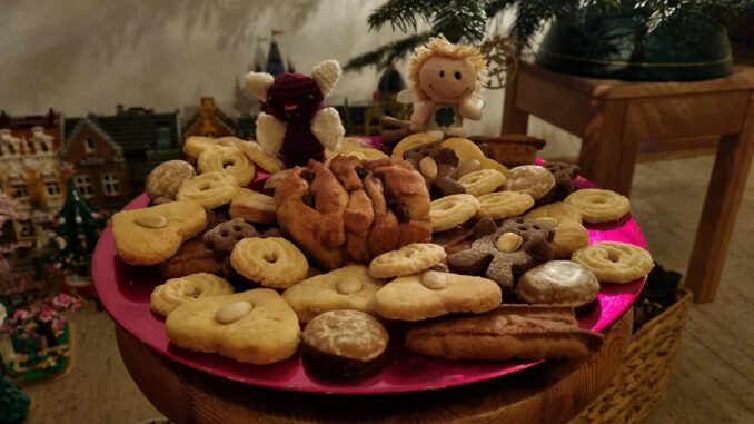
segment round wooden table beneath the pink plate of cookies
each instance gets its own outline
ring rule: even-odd
[[[607,387],[628,343],[633,314],[605,332],[581,363],[549,361],[463,387],[401,395],[284,392],[222,379],[151,352],[116,325],[120,355],[147,398],[177,423],[565,423]]]

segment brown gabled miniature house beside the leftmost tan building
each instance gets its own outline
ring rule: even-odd
[[[73,166],[73,181],[81,197],[97,208],[118,210],[131,198],[123,149],[96,118],[76,120],[60,157]]]

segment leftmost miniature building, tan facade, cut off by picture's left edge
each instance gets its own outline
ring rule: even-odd
[[[2,228],[0,245],[31,248],[49,239],[65,199],[58,157],[61,122],[60,114],[51,109],[43,116],[0,112],[0,188],[17,205],[17,216]]]

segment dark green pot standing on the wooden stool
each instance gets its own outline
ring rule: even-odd
[[[553,23],[536,63],[565,73],[643,81],[692,81],[733,71],[724,26],[691,33],[658,27],[644,39],[631,14],[560,18]]]

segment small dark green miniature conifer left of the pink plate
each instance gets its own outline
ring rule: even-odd
[[[81,197],[68,179],[66,203],[56,215],[56,237],[50,240],[48,259],[73,276],[88,277],[91,255],[106,221]]]

